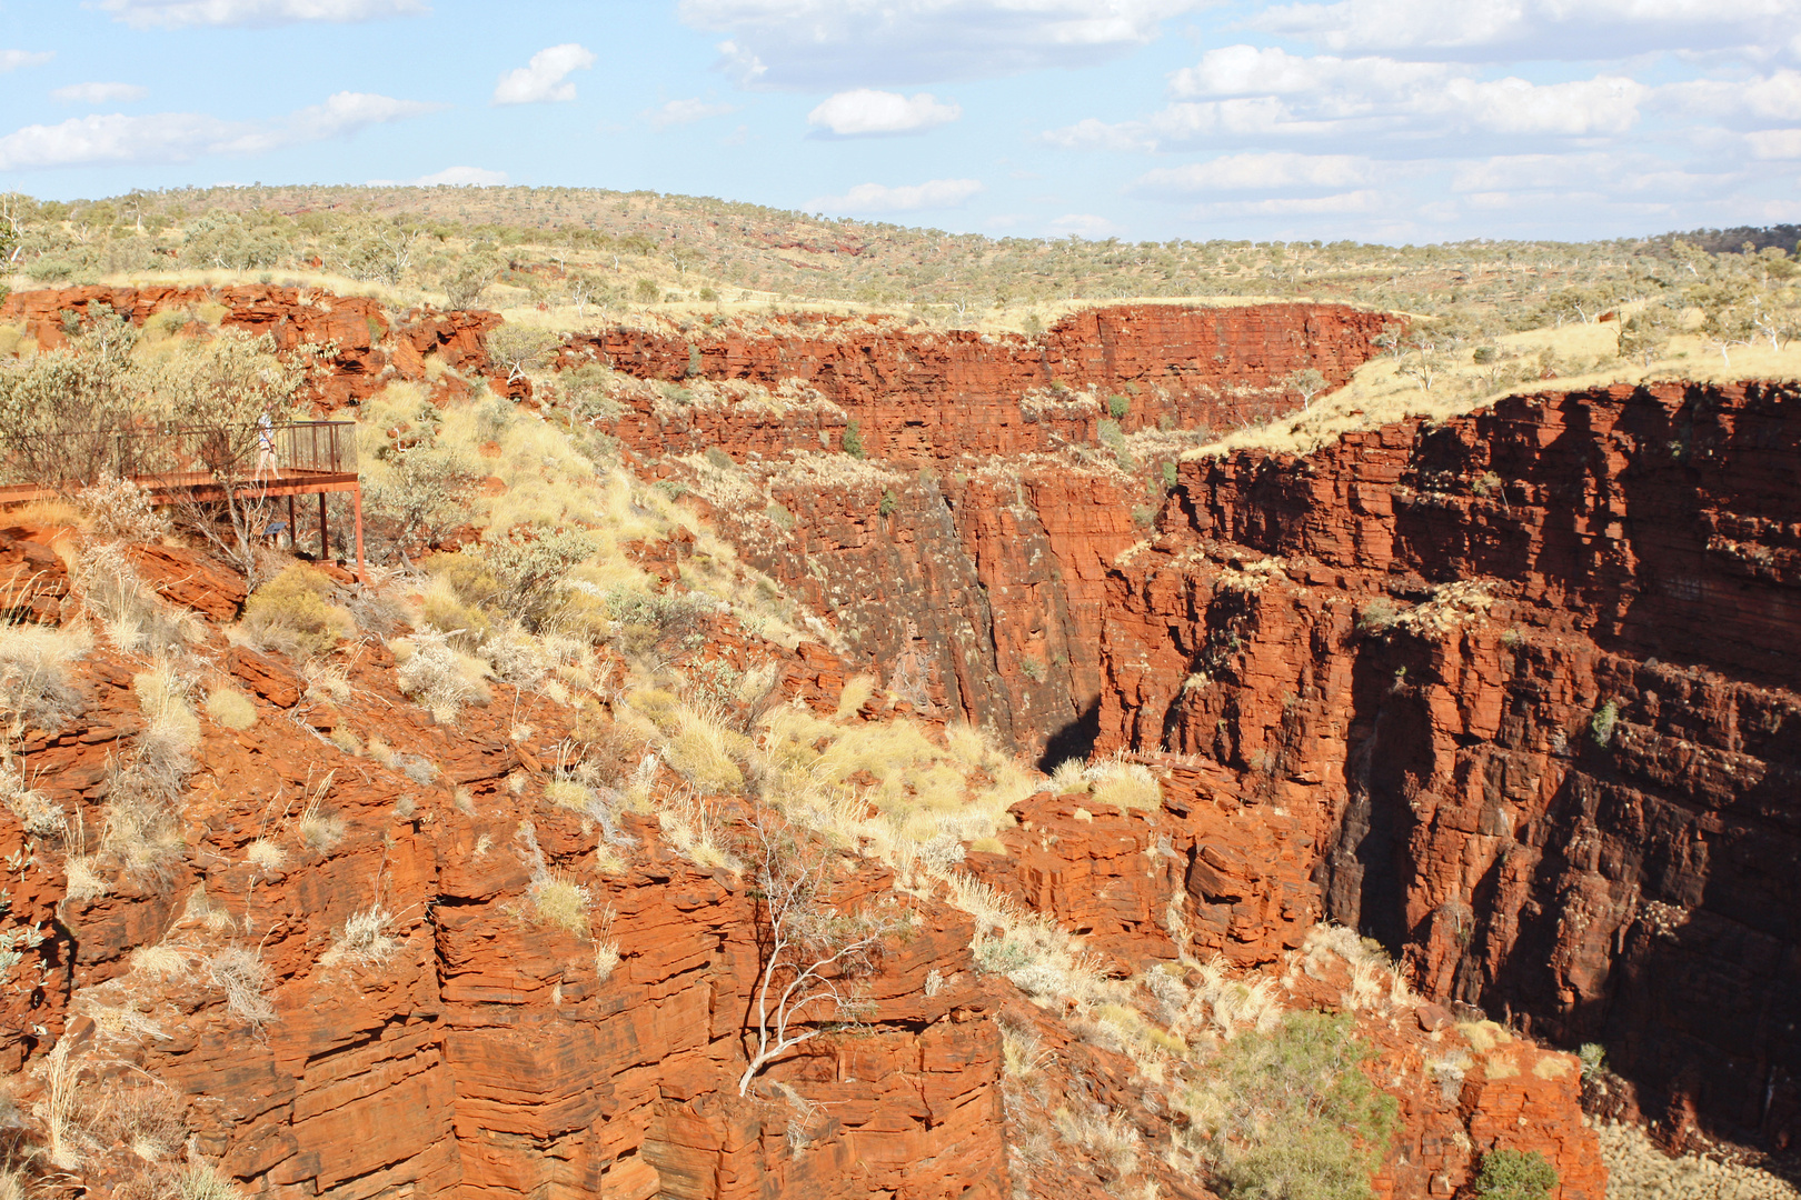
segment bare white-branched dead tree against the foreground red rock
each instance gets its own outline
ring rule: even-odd
[[[821,894],[830,855],[801,846],[776,817],[764,813],[751,829],[762,973],[746,1022],[751,1061],[738,1078],[738,1096],[749,1096],[764,1067],[857,1016],[863,1006],[850,982],[873,966],[899,927],[893,916],[834,910]]]

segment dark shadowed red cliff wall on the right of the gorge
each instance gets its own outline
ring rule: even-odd
[[[1299,817],[1286,885],[1430,995],[1785,1144],[1797,444],[1794,389],[1657,385],[1187,462],[1109,578],[1100,747]]]

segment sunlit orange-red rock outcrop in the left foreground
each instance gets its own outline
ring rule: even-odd
[[[740,1097],[762,963],[746,876],[695,867],[634,815],[612,835],[630,865],[596,874],[603,835],[544,799],[560,709],[528,694],[448,729],[398,696],[378,644],[337,702],[272,657],[202,651],[256,694],[258,721],[202,716],[186,853],[65,894],[0,811],[0,851],[31,860],[9,930],[49,934],[9,1063],[65,1042],[77,1112],[153,1079],[195,1150],[261,1195],[1007,1193],[996,1000],[967,918],[920,901],[863,981],[863,1024]],[[99,829],[122,786],[110,757],[142,720],[130,664],[97,649],[83,678],[81,716],[18,748],[49,802]],[[510,739],[520,720],[542,734]],[[895,903],[881,871],[841,865],[834,907]],[[585,932],[542,918],[548,878],[587,889]],[[137,1169],[126,1155],[85,1175]]]

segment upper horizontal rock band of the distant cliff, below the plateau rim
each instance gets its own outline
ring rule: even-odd
[[[668,383],[800,381],[832,405],[751,416],[645,401],[616,425],[634,448],[717,446],[742,461],[753,452],[836,448],[855,421],[864,453],[917,466],[1093,441],[1109,417],[1100,407],[1109,394],[1124,401],[1118,421],[1127,432],[1160,423],[1223,428],[1288,412],[1299,403],[1291,372],[1311,367],[1342,385],[1376,353],[1387,320],[1344,304],[1122,304],[1075,313],[1028,340],[897,329],[877,317],[783,315],[773,318],[774,333],[726,324],[576,335],[562,362]]]

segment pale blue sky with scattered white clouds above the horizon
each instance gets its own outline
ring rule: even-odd
[[[989,236],[1801,221],[1801,0],[0,0],[0,191],[650,189]]]

